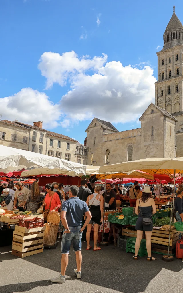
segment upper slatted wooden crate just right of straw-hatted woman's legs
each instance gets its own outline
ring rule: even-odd
[[[151,243],[168,246],[169,231],[163,229],[153,229]],[[179,233],[174,229],[170,232],[170,246],[175,246],[179,239]]]

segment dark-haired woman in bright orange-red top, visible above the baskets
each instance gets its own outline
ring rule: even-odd
[[[50,212],[55,212],[59,211],[59,207],[61,206],[60,198],[58,196],[58,193],[54,192],[54,186],[53,184],[49,183],[46,184],[45,186],[46,189],[46,197],[45,197],[45,202],[42,204],[45,206],[45,210],[49,209],[50,201],[51,201],[51,206],[50,206]]]

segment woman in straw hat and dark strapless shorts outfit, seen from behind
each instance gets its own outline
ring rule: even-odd
[[[138,259],[138,251],[141,245],[143,231],[145,231],[146,248],[148,253],[147,260],[156,260],[156,258],[151,255],[151,235],[153,231],[153,221],[151,221],[149,225],[145,225],[143,223],[143,219],[151,219],[152,214],[156,213],[155,202],[152,198],[149,186],[144,187],[141,198],[136,201],[135,213],[138,215],[138,219],[135,226],[135,229],[137,230],[137,238],[135,242],[135,255],[133,258],[134,260]]]

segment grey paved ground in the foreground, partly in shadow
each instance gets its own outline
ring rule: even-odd
[[[91,242],[93,244],[93,242]],[[83,243],[82,279],[74,276],[76,268],[73,249],[69,254],[65,284],[52,284],[49,279],[59,275],[60,248],[50,249],[26,258],[11,255],[11,246],[0,248],[0,292],[30,293],[177,293],[183,289],[183,263],[174,259],[167,263],[162,256],[155,262],[138,261],[113,244],[101,251],[86,251]]]

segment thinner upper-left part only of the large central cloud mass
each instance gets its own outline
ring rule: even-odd
[[[41,55],[38,68],[43,76],[47,78],[46,89],[51,88],[54,83],[61,86],[66,84],[67,79],[74,79],[78,73],[87,70],[97,71],[107,61],[107,55],[100,57],[82,56],[74,52],[65,52],[62,55],[54,52],[45,52]]]

